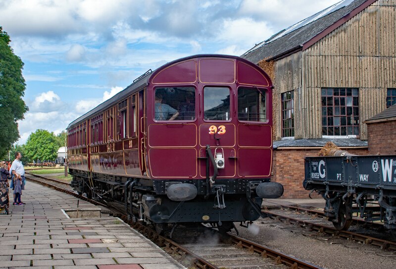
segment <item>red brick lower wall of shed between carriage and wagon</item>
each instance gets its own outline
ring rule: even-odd
[[[283,185],[284,199],[308,198],[309,191],[302,187],[304,180],[304,157],[317,156],[320,149],[281,148],[274,150],[271,180]],[[342,148],[351,154],[367,155],[367,149]],[[312,195],[315,198],[315,195]]]

